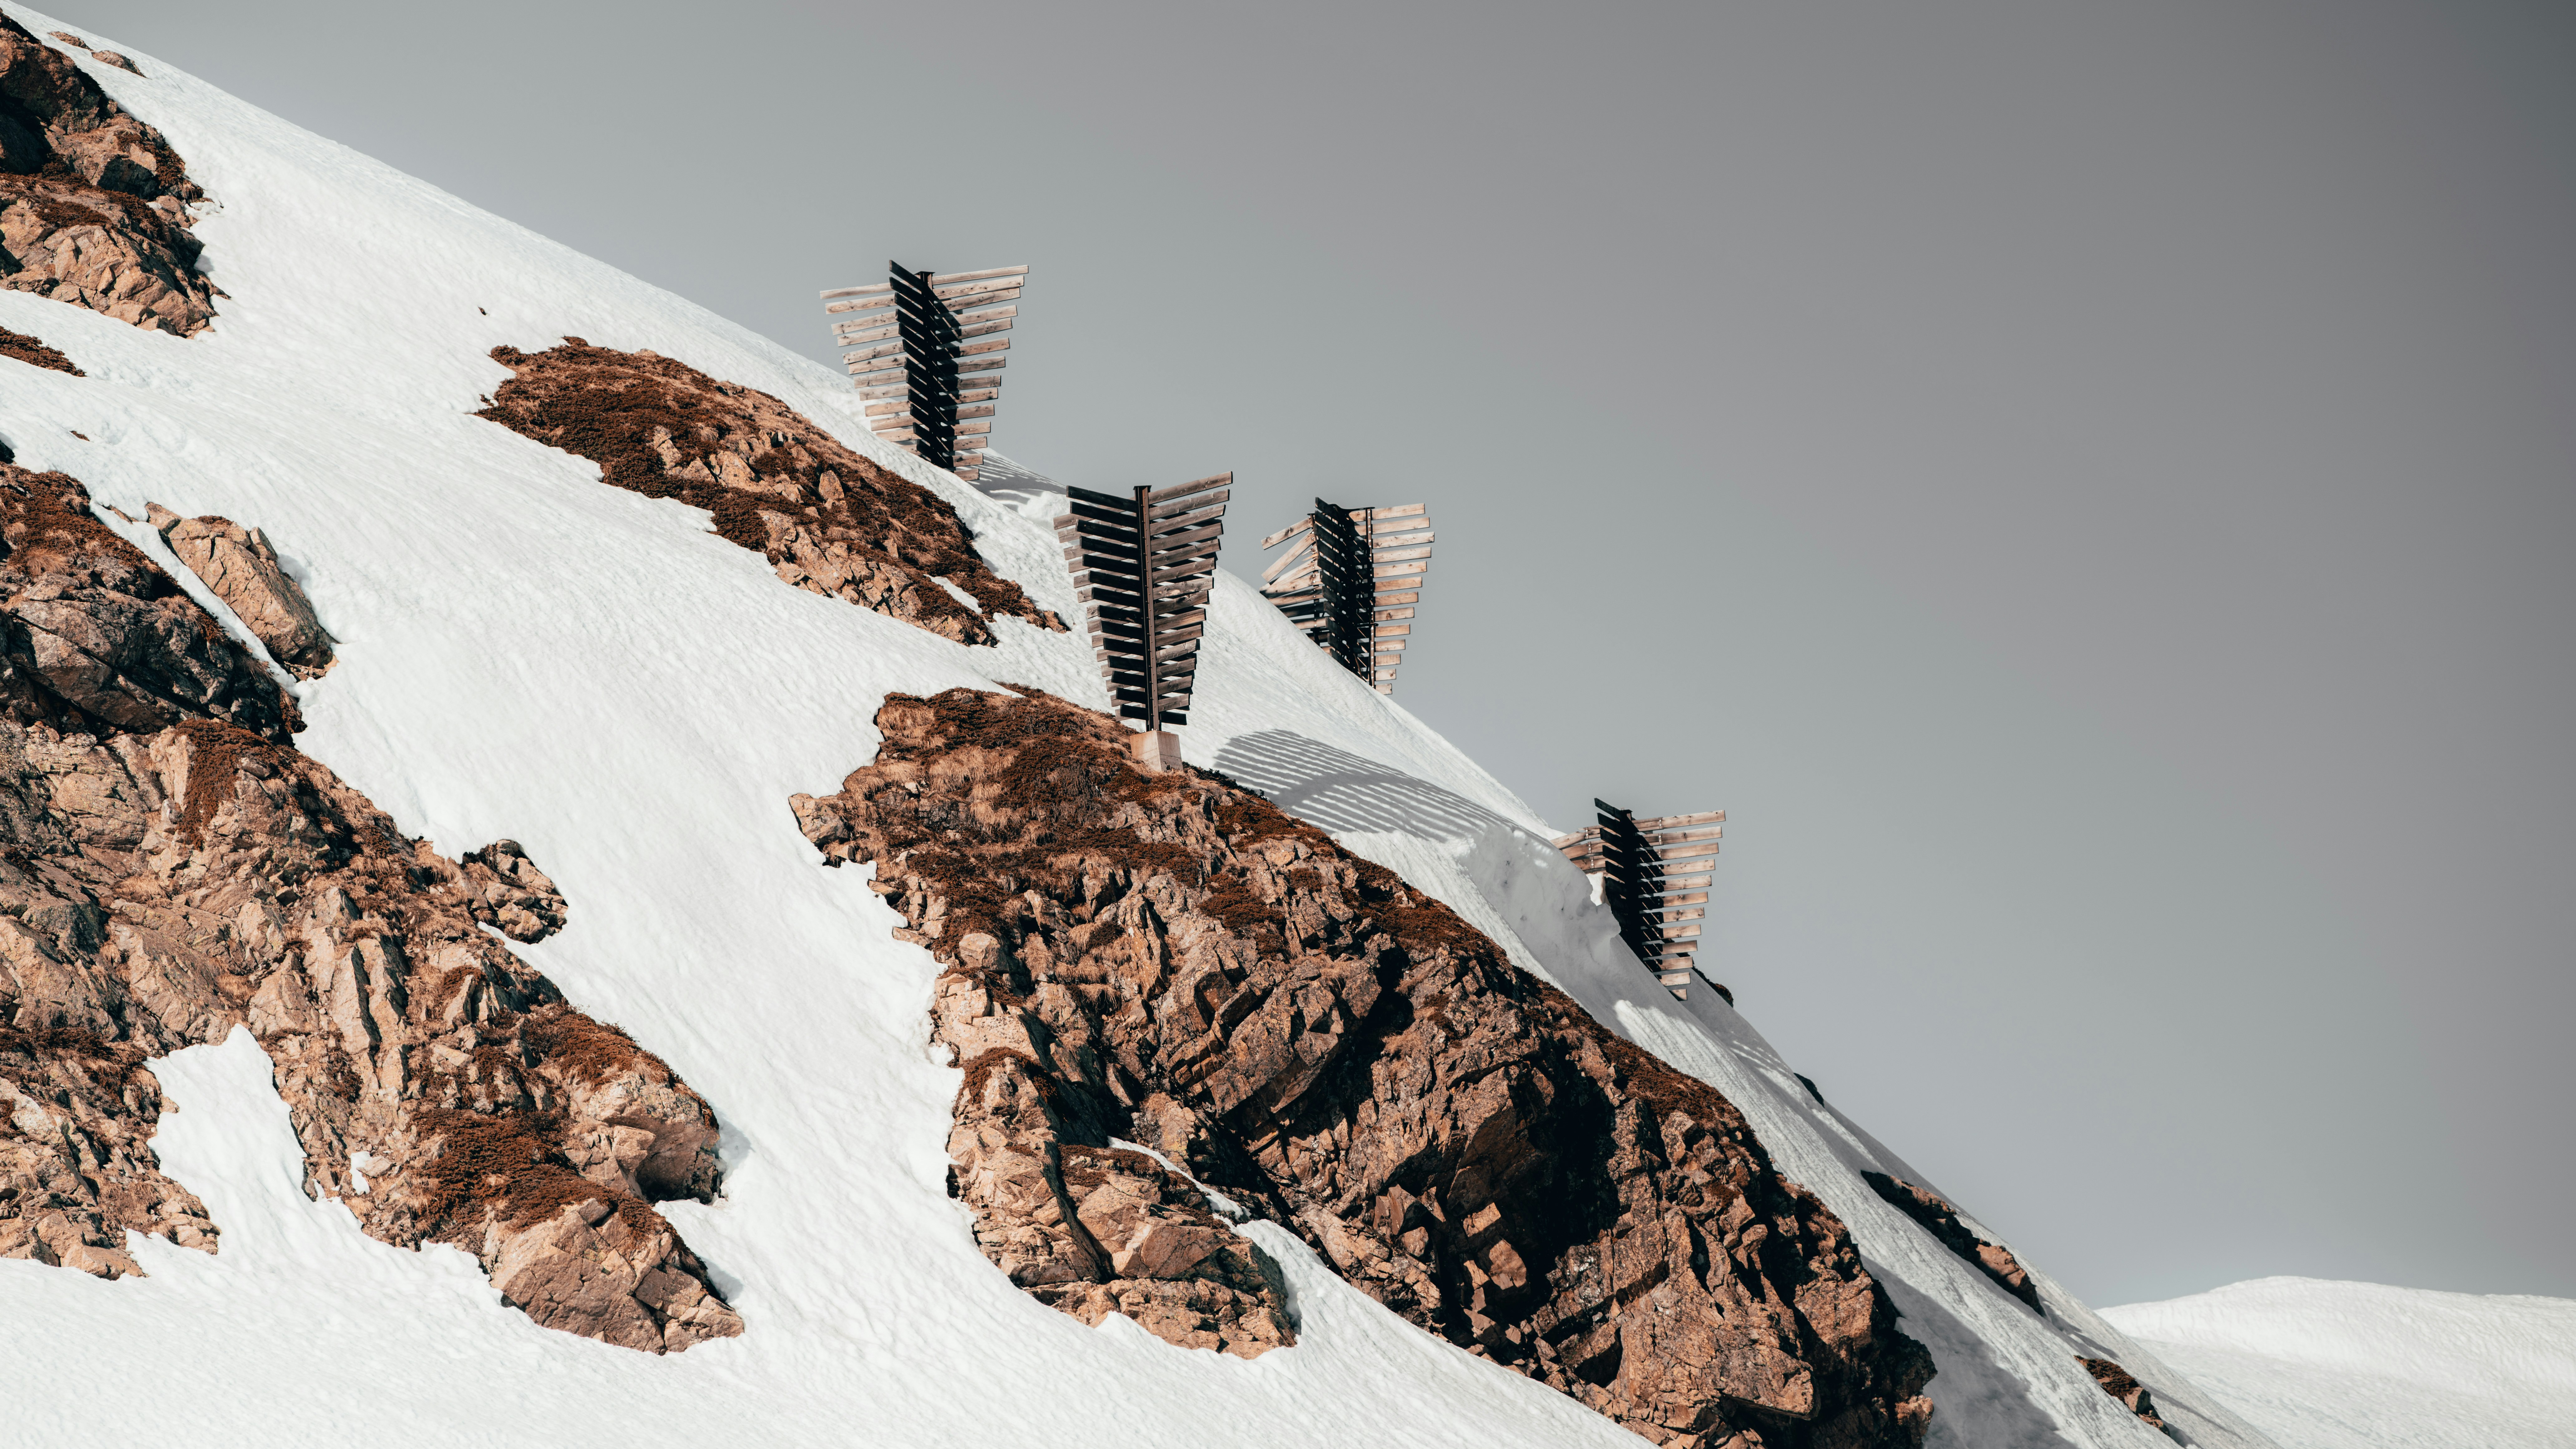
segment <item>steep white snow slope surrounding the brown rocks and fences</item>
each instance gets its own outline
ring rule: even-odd
[[[149,1276],[124,1281],[0,1261],[18,1387],[0,1439],[1633,1444],[1396,1320],[1275,1225],[1249,1232],[1301,1328],[1255,1361],[1118,1318],[1090,1330],[1002,1279],[945,1191],[958,1073],[927,1049],[935,964],[858,871],[819,869],[786,802],[873,755],[889,691],[1020,681],[1105,704],[1082,637],[999,619],[966,647],[791,588],[706,513],[603,487],[474,413],[507,376],[495,345],[652,348],[935,490],[994,572],[1077,616],[1043,480],[963,487],[876,443],[829,369],[126,54],[139,75],[77,64],[204,186],[214,322],[175,338],[0,291],[0,327],[85,371],[0,358],[0,441],[126,516],[222,513],[276,541],[337,639],[332,670],[294,686],[301,750],[446,853],[520,841],[572,913],[518,951],[721,1116],[726,1194],[665,1212],[747,1328],[631,1354],[536,1328],[448,1248],[361,1235],[301,1194],[270,1067],[234,1031],[155,1065],[178,1106],[162,1168],[206,1201],[222,1253],[137,1238]],[[234,621],[152,529],[124,531]],[[2146,1379],[2192,1444],[2269,1444],[2043,1274],[2045,1318],[1888,1207],[1862,1171],[1924,1178],[1731,1006],[1662,993],[1528,804],[1231,578],[1198,683],[1193,763],[1453,905],[1744,1111],[1932,1348],[1932,1444],[2164,1444],[2076,1354]]]

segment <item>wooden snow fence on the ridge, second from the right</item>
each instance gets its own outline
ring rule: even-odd
[[[1262,596],[1342,668],[1394,694],[1432,567],[1430,508],[1342,508],[1316,498],[1314,513],[1262,539],[1262,549],[1280,544],[1288,552],[1262,570]]]

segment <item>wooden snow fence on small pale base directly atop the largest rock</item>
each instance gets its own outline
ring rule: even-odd
[[[1072,511],[1056,518],[1056,536],[1118,714],[1149,732],[1188,724],[1234,474],[1139,487],[1133,498],[1087,487],[1066,495]]]

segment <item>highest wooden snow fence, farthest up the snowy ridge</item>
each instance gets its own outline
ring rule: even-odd
[[[974,482],[992,438],[1025,266],[927,273],[886,263],[873,286],[822,294],[868,431]]]

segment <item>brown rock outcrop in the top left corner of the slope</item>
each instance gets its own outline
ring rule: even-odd
[[[201,196],[160,131],[0,15],[0,286],[193,335],[214,320],[188,232]]]

